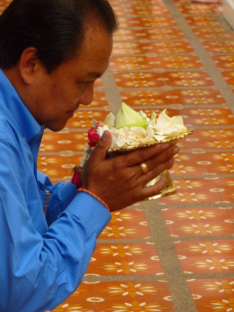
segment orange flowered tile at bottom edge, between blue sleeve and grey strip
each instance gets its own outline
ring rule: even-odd
[[[171,312],[175,311],[168,285],[163,280],[82,282],[76,292],[53,311],[67,312],[65,308],[77,305],[77,303],[82,303],[81,307],[86,308],[92,306],[92,302],[95,303],[97,311],[102,311],[109,310],[115,304],[133,301],[139,303],[144,301],[145,305],[156,301],[159,307],[170,309]],[[59,308],[61,310],[58,310]],[[86,309],[80,311],[86,311]]]

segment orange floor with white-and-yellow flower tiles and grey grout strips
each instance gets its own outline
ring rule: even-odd
[[[110,69],[90,107],[45,131],[39,169],[70,179],[92,118],[122,101],[182,115],[194,133],[170,170],[177,193],[113,213],[84,281],[53,312],[234,311],[234,32],[216,5],[110,2],[120,20]]]

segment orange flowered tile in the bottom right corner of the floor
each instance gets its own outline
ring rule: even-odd
[[[232,311],[233,284],[231,278],[223,279],[193,279],[188,280],[197,311],[208,312],[215,310]]]

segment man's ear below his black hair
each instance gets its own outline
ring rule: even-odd
[[[34,78],[35,71],[41,62],[37,58],[37,49],[35,47],[26,48],[20,57],[19,71],[23,81],[30,85]]]

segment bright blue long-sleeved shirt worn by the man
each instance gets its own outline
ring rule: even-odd
[[[44,312],[64,301],[111,218],[71,182],[52,185],[37,172],[43,129],[0,70],[1,312]]]

